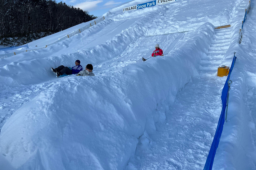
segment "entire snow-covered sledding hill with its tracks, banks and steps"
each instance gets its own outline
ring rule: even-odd
[[[0,170],[255,170],[254,5],[134,0],[0,49]]]

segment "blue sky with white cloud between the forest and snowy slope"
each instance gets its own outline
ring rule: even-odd
[[[109,9],[130,0],[57,0],[57,2],[60,1],[76,8],[79,7],[84,11],[89,11],[90,15],[101,16]]]

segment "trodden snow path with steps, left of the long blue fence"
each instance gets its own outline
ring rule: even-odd
[[[157,132],[140,137],[127,169],[197,170],[204,166],[221,113],[221,92],[226,81],[226,77],[216,76],[217,68],[229,48],[232,29],[215,30],[208,52],[202,57],[199,75],[177,94],[165,113],[166,122],[157,123]]]

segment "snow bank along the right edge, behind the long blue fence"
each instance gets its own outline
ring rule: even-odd
[[[246,6],[248,2],[240,1],[239,6]],[[238,5],[238,3],[237,3]],[[252,116],[255,111],[251,105],[255,100],[251,99],[256,87],[255,81],[255,10],[251,9],[243,27],[243,40],[238,43],[239,30],[242,23],[244,11],[234,17],[234,35],[228,49],[225,60],[221,64],[230,65],[233,52],[236,52],[236,63],[234,65],[230,80],[232,80],[227,123],[224,123],[223,132],[217,148],[213,169],[256,169],[256,147],[255,147],[255,120]],[[253,112],[254,111],[254,112]]]

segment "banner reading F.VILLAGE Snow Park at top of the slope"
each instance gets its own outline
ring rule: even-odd
[[[123,12],[131,11],[131,10],[137,10],[137,9],[142,9],[142,8],[146,8],[146,7],[152,7],[152,6],[155,6],[155,5],[167,4],[167,3],[175,2],[175,1],[176,0],[155,0],[155,1],[150,1],[150,2],[143,3],[143,4],[138,4],[138,5],[133,5],[133,6],[130,6],[130,7],[123,8]]]

